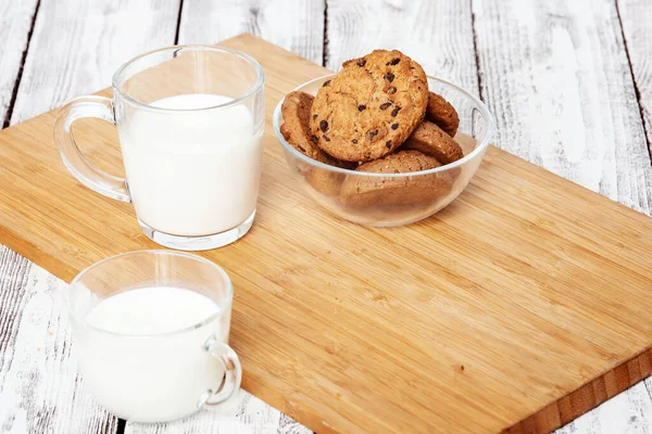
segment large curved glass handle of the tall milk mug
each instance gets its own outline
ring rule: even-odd
[[[115,125],[113,102],[104,97],[80,97],[65,104],[54,120],[54,142],[61,159],[75,178],[89,189],[118,201],[130,202],[126,179],[109,175],[90,163],[77,146],[72,126],[77,119],[97,117]]]

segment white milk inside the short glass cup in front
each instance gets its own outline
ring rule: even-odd
[[[118,334],[75,330],[84,381],[101,405],[124,419],[170,421],[193,413],[202,393],[218,388],[224,378],[224,367],[203,345],[211,334],[227,343],[230,314],[178,331],[216,311],[210,298],[177,288],[131,290],[101,301],[86,322]]]

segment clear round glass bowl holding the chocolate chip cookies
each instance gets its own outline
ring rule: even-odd
[[[314,95],[331,77],[316,78],[294,90]],[[330,213],[365,226],[418,221],[457,197],[482,161],[493,131],[493,118],[481,101],[450,82],[428,77],[428,87],[457,111],[460,128],[454,139],[462,146],[464,157],[435,169],[406,174],[348,170],[303,155],[280,133],[284,122],[280,101],[274,111],[274,131],[290,169],[306,193]]]

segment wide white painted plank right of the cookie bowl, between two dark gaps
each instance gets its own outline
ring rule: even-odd
[[[496,144],[650,215],[652,166],[613,0],[473,2]]]

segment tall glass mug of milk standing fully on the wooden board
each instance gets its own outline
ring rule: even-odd
[[[65,167],[86,187],[133,202],[142,231],[166,247],[221,247],[244,235],[255,215],[264,73],[249,55],[177,46],[139,55],[113,75],[113,100],[64,105],[54,140]],[[97,117],[117,127],[126,179],[82,154],[72,125]]]

